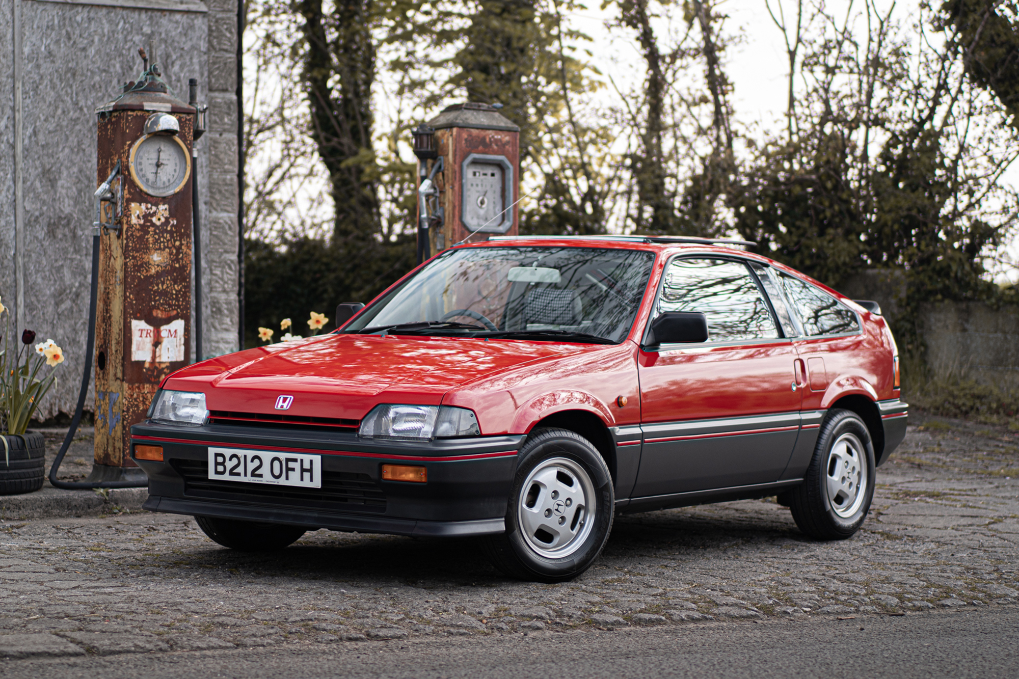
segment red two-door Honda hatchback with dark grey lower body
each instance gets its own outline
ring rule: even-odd
[[[895,341],[876,304],[734,246],[446,250],[334,332],[167,377],[131,427],[145,507],[240,550],[477,535],[541,581],[589,568],[618,512],[777,495],[849,537],[906,432]]]

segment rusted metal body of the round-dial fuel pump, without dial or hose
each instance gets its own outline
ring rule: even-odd
[[[101,237],[95,461],[133,467],[130,425],[145,418],[160,381],[191,362],[192,187],[150,196],[126,171],[128,156],[148,116],[160,110],[177,118],[190,157],[194,109],[166,95],[132,93],[98,110],[97,185],[119,160],[123,214],[119,230]]]

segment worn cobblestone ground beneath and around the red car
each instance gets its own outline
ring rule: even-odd
[[[250,555],[190,517],[0,523],[0,658],[1015,606],[1019,433],[916,420],[853,539],[805,539],[773,499],[624,516],[557,585],[468,540],[320,530]]]

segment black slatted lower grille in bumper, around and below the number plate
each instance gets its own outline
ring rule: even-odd
[[[184,479],[184,495],[210,500],[271,503],[290,507],[384,512],[385,493],[368,474],[322,470],[321,488],[244,483],[209,478],[206,460],[171,460]]]

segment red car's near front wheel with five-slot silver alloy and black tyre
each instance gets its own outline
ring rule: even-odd
[[[506,530],[482,538],[509,577],[562,582],[594,563],[612,528],[615,495],[598,450],[567,429],[537,429],[521,449]]]

